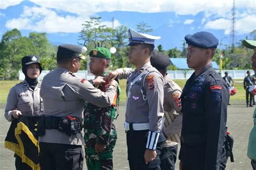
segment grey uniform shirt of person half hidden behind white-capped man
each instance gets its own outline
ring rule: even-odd
[[[177,145],[180,141],[182,128],[182,113],[180,95],[182,93],[178,84],[172,81],[168,74],[164,77],[164,118],[163,132],[168,137],[163,147]]]

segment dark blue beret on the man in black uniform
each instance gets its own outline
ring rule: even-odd
[[[185,36],[188,45],[199,48],[217,48],[219,40],[210,32],[197,32],[192,36],[190,34]]]

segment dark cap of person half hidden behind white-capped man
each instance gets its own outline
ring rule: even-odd
[[[164,55],[159,51],[153,51],[150,58],[151,65],[157,70],[164,70],[170,65],[169,56]]]

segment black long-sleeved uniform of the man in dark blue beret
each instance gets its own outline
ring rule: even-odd
[[[205,153],[205,160],[202,162],[205,169],[215,169],[220,164],[226,131],[228,95],[227,84],[213,70],[212,65],[207,65],[198,76],[193,73],[181,94],[181,136],[186,140],[186,147],[193,147],[191,143],[203,141],[204,144],[199,150],[204,150],[201,152]],[[184,146],[181,145],[181,150],[182,147]],[[181,155],[181,161],[185,157]]]

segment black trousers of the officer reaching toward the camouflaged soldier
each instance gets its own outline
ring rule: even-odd
[[[80,145],[39,142],[39,161],[42,170],[82,170],[84,153]]]

